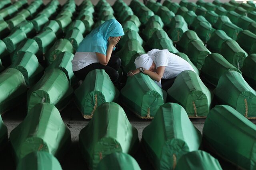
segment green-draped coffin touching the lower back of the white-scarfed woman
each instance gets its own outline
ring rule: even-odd
[[[188,48],[184,53],[188,55],[188,58],[196,66],[196,68],[201,70],[204,64],[204,59],[211,52],[204,46],[201,40],[191,40],[188,43]]]

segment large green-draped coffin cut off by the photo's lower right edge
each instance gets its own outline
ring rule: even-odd
[[[214,107],[204,123],[204,147],[243,169],[255,169],[255,137],[254,123],[230,106]]]

